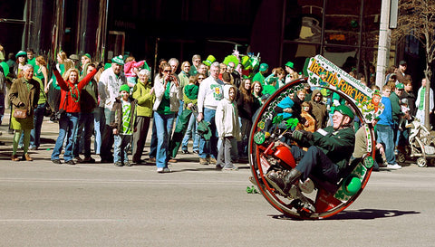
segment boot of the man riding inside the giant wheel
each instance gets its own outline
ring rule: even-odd
[[[266,180],[280,195],[286,196],[292,185],[295,184],[301,175],[302,173],[296,169],[290,171],[270,171],[266,175]]]

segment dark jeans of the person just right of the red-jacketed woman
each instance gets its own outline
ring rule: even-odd
[[[79,123],[74,142],[73,156],[79,157],[83,147],[84,157],[91,157],[91,137],[93,131],[93,112],[79,114]],[[83,139],[83,142],[81,140]],[[82,145],[83,143],[83,145]]]

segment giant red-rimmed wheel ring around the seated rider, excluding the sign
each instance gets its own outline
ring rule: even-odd
[[[255,181],[261,194],[266,198],[266,201],[275,207],[276,210],[292,218],[321,219],[330,217],[333,214],[338,214],[355,201],[355,199],[362,193],[363,188],[369,180],[372,173],[372,166],[369,164],[370,162],[363,165],[361,162],[356,166],[355,170],[357,170],[357,174],[355,176],[358,176],[360,179],[361,187],[354,192],[353,195],[343,193],[342,184],[346,183],[346,181],[343,181],[344,179],[342,180],[342,184],[332,186],[328,183],[324,184],[322,181],[315,181],[315,179],[313,179],[312,182],[305,181],[304,183],[307,183],[307,185],[299,186],[299,188],[304,187],[304,189],[297,189],[292,192],[292,188],[289,196],[279,195],[275,192],[273,187],[267,183],[265,177],[267,170],[270,166],[279,167],[281,163],[280,160],[265,155],[265,149],[267,146],[272,146],[273,143],[268,144],[267,142],[264,142],[263,144],[259,144],[265,140],[265,136],[262,134],[262,132],[265,132],[263,131],[265,128],[265,119],[270,119],[272,117],[271,114],[274,114],[274,109],[278,102],[289,96],[291,93],[302,89],[302,83],[306,82],[306,80],[307,78],[298,79],[286,84],[279,90],[276,90],[259,110],[259,114],[253,123],[253,128],[251,129],[251,135],[249,138],[249,165],[251,166],[253,175],[252,181]],[[341,94],[338,91],[336,92]],[[362,112],[353,104],[352,101],[348,101],[348,103],[355,111],[356,116],[362,119]],[[370,128],[369,131],[372,135],[371,137],[374,137],[372,128]],[[374,147],[374,138],[371,138],[371,140],[371,145]],[[374,158],[374,153],[372,153],[372,157],[369,158]],[[313,186],[314,189],[310,189],[310,186]],[[308,187],[308,189],[306,189],[306,187]]]

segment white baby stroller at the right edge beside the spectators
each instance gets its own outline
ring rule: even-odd
[[[417,157],[417,166],[435,165],[435,137],[430,136],[428,128],[420,123],[419,119],[413,119],[406,128],[409,128],[410,137],[409,146],[405,148],[405,152],[398,154],[398,161],[405,162],[407,157]]]

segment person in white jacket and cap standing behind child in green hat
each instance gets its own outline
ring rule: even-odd
[[[115,98],[118,97],[122,84],[127,84],[127,80],[122,73],[122,56],[114,57],[111,60],[111,68],[102,72],[100,81],[98,82],[98,92],[100,93],[100,107],[102,107],[104,114],[100,119],[102,126],[102,147],[100,150],[100,157],[102,163],[112,163],[113,156],[111,154],[111,147],[113,146],[113,131],[110,126],[111,109]]]

